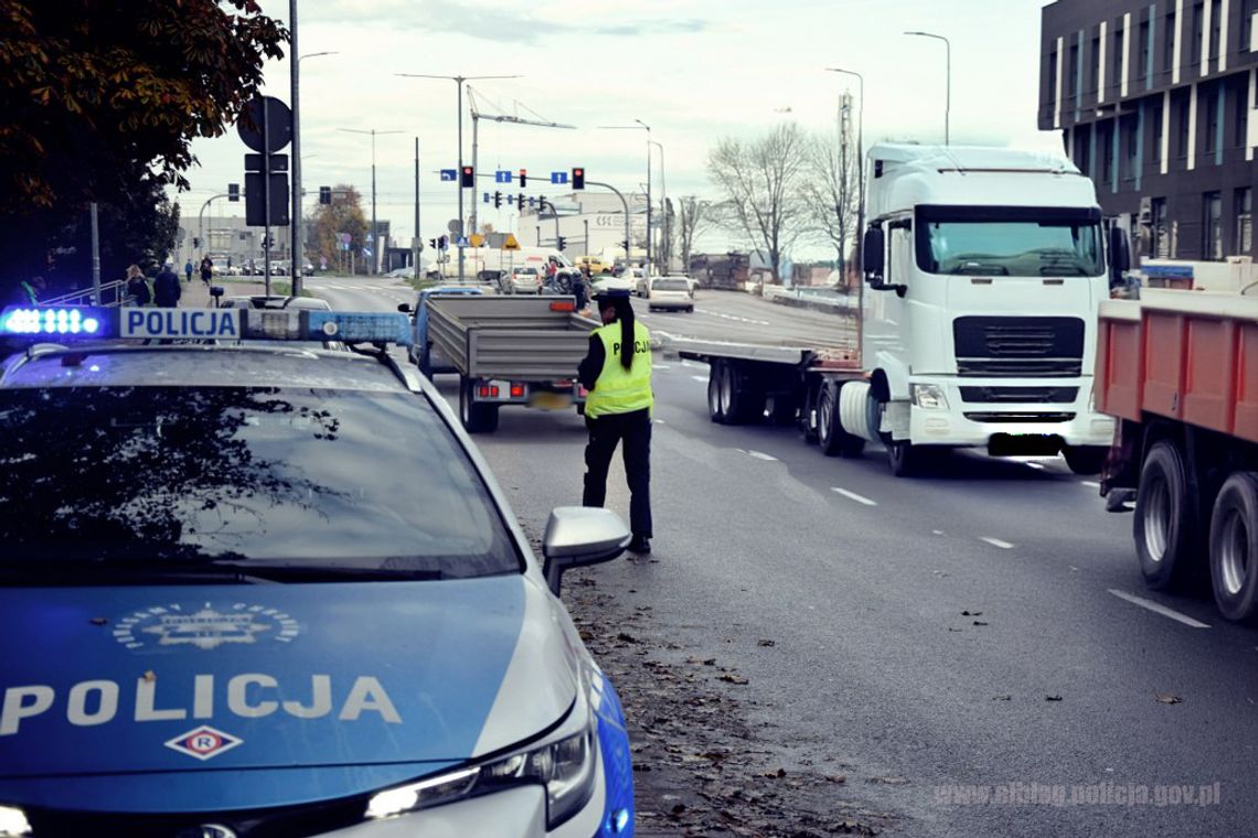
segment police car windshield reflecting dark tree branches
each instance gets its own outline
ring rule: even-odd
[[[8,389],[0,423],[6,564],[522,568],[457,440],[411,393]]]

